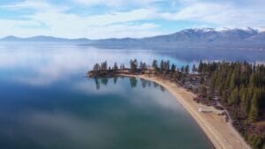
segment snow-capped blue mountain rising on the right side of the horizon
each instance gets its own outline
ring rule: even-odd
[[[213,28],[202,28],[202,29],[186,29],[175,34],[168,34],[162,36],[155,36],[145,38],[147,41],[170,41],[175,43],[231,43],[235,41],[245,41],[248,38],[254,37],[260,34],[258,30],[253,28],[247,29],[225,29],[218,30]]]

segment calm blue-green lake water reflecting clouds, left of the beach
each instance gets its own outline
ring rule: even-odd
[[[212,149],[162,86],[139,78],[84,78],[94,63],[170,59],[147,49],[0,44],[0,148]]]

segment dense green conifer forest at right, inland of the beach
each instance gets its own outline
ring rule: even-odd
[[[200,63],[198,71],[211,95],[228,109],[233,125],[254,149],[265,141],[265,66],[252,63]]]

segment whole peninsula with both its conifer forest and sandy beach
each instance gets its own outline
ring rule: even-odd
[[[143,62],[139,64],[135,59],[130,61],[130,68],[125,68],[125,64],[118,67],[114,63],[113,67],[108,67],[107,62],[95,63],[87,77],[122,76],[153,81],[165,87],[186,108],[216,149],[259,149],[264,147],[264,105],[261,99],[265,92],[264,84],[256,83],[264,79],[264,68],[262,64],[246,62],[201,62],[198,67],[193,65],[190,71],[189,65],[177,69],[170,61],[161,61],[158,66],[154,60],[149,66]],[[224,70],[226,75],[222,73]],[[242,75],[249,81],[242,81]],[[246,98],[250,100],[244,102]]]

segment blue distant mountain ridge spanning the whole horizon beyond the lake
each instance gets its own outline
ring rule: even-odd
[[[0,41],[49,41],[75,42],[99,46],[138,46],[138,47],[230,47],[230,48],[265,48],[265,32],[253,28],[246,29],[214,29],[195,28],[179,31],[175,34],[158,35],[146,38],[110,38],[89,40],[87,38],[64,39],[51,36],[34,36],[19,38],[7,36]]]

